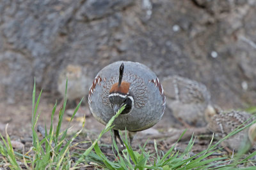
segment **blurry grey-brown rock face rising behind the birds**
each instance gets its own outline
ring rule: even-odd
[[[1,0],[0,101],[56,98],[67,64],[94,78],[116,60],[204,83],[223,108],[256,104],[254,0]],[[57,95],[58,96],[58,95]]]

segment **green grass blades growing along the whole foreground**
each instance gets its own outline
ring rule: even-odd
[[[117,153],[115,155],[115,160],[109,159],[104,152],[100,149],[98,144],[102,135],[106,132],[110,131],[113,128],[113,122],[120,113],[124,110],[125,106],[123,106],[117,113],[114,115],[111,120],[109,120],[106,127],[100,132],[99,136],[95,141],[93,141],[92,145],[87,148],[80,155],[78,154],[79,150],[76,147],[79,143],[73,143],[74,139],[81,134],[81,131],[85,124],[85,118],[83,121],[83,127],[76,134],[73,134],[71,137],[67,136],[68,127],[70,126],[70,122],[73,120],[74,116],[79,109],[81,102],[77,105],[76,109],[72,117],[70,118],[70,122],[68,122],[68,126],[61,131],[61,125],[63,122],[63,115],[65,113],[65,106],[67,104],[67,85],[66,82],[66,90],[65,90],[65,99],[63,103],[63,108],[58,113],[58,124],[54,127],[54,115],[56,113],[57,102],[54,104],[51,113],[51,125],[49,127],[49,131],[47,131],[47,127],[45,125],[45,136],[42,140],[39,139],[38,134],[36,132],[36,124],[38,119],[40,118],[40,112],[38,111],[38,106],[40,103],[40,98],[42,95],[42,90],[36,99],[36,84],[34,83],[33,88],[33,100],[32,100],[32,115],[31,115],[31,130],[32,130],[32,138],[33,138],[33,146],[27,153],[17,153],[13,151],[12,143],[10,140],[10,136],[7,132],[7,127],[5,129],[5,137],[1,136],[0,141],[0,167],[8,167],[9,169],[22,169],[26,167],[26,169],[79,169],[86,168],[87,166],[93,166],[95,169],[232,169],[237,168],[238,166],[248,166],[249,169],[255,169],[254,166],[255,160],[252,160],[253,157],[256,156],[256,152],[250,153],[249,155],[244,156],[244,153],[248,150],[248,148],[243,148],[241,152],[234,155],[234,157],[211,157],[213,153],[220,152],[218,145],[221,141],[230,138],[237,134],[238,132],[243,131],[245,128],[248,128],[250,125],[255,124],[256,120],[248,125],[241,125],[237,127],[234,131],[230,132],[225,138],[220,139],[216,144],[212,145],[212,141],[214,139],[214,135],[212,135],[212,139],[209,143],[209,146],[206,150],[203,150],[200,153],[191,152],[193,145],[195,144],[195,137],[191,136],[188,145],[186,146],[183,153],[175,150],[175,146],[182,138],[182,136],[186,133],[184,131],[177,142],[167,151],[159,150],[157,141],[154,140],[154,151],[150,150],[148,152],[145,151],[147,147],[147,142],[143,146],[139,146],[139,150],[132,149],[129,144],[129,140],[127,139],[127,132],[125,135],[122,135],[120,132],[120,136],[122,141],[124,141],[124,150],[120,152],[118,149],[118,145],[113,140],[112,150],[113,153]],[[252,109],[253,112],[255,110]],[[246,122],[245,122],[246,123]],[[111,132],[111,136],[113,138],[113,134]],[[87,143],[89,141],[84,141]],[[80,142],[81,143],[81,142]],[[70,152],[75,150],[74,152]],[[76,157],[76,162],[73,162],[71,157]],[[80,164],[83,163],[83,164]]]

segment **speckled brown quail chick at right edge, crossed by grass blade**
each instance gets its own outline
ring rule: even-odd
[[[206,115],[206,117],[208,117],[207,129],[214,132],[215,136],[223,138],[246,122],[252,115],[245,111],[229,111],[227,113],[220,111],[216,115]],[[250,124],[252,121],[253,118],[248,120],[243,126]],[[221,142],[221,146],[237,152],[241,146],[246,144],[249,149],[256,141],[255,136],[256,124],[253,124],[249,129],[244,129],[234,136],[225,139]]]

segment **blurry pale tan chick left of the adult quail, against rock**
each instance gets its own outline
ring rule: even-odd
[[[84,67],[82,68],[79,65],[68,64],[67,67],[61,70],[58,77],[58,92],[60,92],[63,99],[65,97],[67,79],[67,99],[69,101],[76,101],[76,104],[78,104],[84,96],[88,95],[88,89],[90,88],[92,78],[86,74],[86,69]],[[63,99],[61,103],[58,104],[57,111],[60,110],[64,101]],[[79,111],[83,110],[80,109]]]

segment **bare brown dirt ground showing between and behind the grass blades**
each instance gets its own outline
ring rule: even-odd
[[[43,96],[38,109],[41,115],[37,125],[41,125],[42,127],[44,127],[44,125],[46,124],[48,130],[51,123],[51,111],[54,106],[53,103],[54,102],[52,102],[52,99]],[[74,110],[72,106],[67,105],[67,107],[69,108],[67,108],[67,110],[65,111],[62,129],[65,129],[68,125],[68,120],[70,119],[70,114],[68,113]],[[95,120],[95,118],[93,118],[86,106],[82,106],[82,109],[83,110],[77,112],[77,116],[74,118],[74,120],[72,120],[72,123],[70,124],[71,128],[68,131],[68,134],[74,134],[74,132],[77,132],[81,129],[84,115],[81,112],[85,111],[84,113],[86,115],[86,122],[83,132],[75,139],[74,143],[82,141],[93,141],[93,139],[97,138],[100,131],[102,131],[102,129],[104,128],[104,125],[100,124],[99,122],[97,122],[97,120]],[[32,101],[22,101],[19,104],[9,105],[6,103],[0,103],[1,134],[5,136],[4,129],[6,127],[6,124],[8,124],[8,134],[10,135],[10,138],[12,139],[12,141],[19,141],[20,143],[23,143],[26,151],[28,151],[29,148],[32,146],[31,110]],[[166,113],[164,113],[163,118],[158,124],[146,131],[138,132],[137,136],[134,138],[132,147],[139,150],[139,145],[143,145],[145,141],[149,139],[145,150],[149,152],[154,152],[154,139],[157,139],[157,146],[159,150],[163,150],[163,152],[166,152],[173,146],[176,138],[179,138],[180,134],[177,134],[177,131],[180,132],[183,128],[180,124],[173,124],[173,122],[176,121],[173,119],[174,118],[170,114],[170,110],[167,109]],[[57,122],[58,114],[56,114],[54,117],[55,128]],[[164,133],[168,133],[170,134],[170,136],[161,136]],[[186,148],[186,146],[188,145],[191,134],[188,135],[186,139],[183,139],[177,144],[176,149],[179,150],[179,152],[184,151],[184,148]],[[210,140],[211,136],[206,139],[202,138],[202,136],[197,136],[195,145],[193,146],[191,153],[194,154],[205,150],[209,145]],[[111,138],[109,137],[109,132],[102,136],[99,144],[102,152],[104,152],[110,158],[115,158],[111,148]],[[77,145],[76,149],[78,148],[79,150],[81,150],[82,153],[89,146],[90,143],[82,143],[80,145]],[[223,150],[223,152],[217,153],[217,155],[227,155],[227,152]]]

